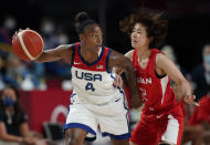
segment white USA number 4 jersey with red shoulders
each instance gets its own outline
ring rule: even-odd
[[[115,76],[108,71],[111,49],[102,46],[98,59],[88,63],[81,55],[81,43],[72,48],[73,93],[82,103],[103,105],[123,96],[122,91],[113,86]]]

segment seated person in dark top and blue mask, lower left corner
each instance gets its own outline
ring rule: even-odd
[[[21,108],[18,90],[6,86],[0,96],[0,145],[35,145],[35,142]]]

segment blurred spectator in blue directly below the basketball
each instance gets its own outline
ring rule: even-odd
[[[17,87],[21,86],[23,90],[40,89],[44,71],[44,64],[42,63],[23,62],[15,55],[10,54],[6,77],[9,80],[9,83],[12,83]]]

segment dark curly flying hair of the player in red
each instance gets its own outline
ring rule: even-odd
[[[135,13],[119,21],[120,31],[130,35],[136,23],[146,28],[147,37],[153,38],[149,48],[157,48],[162,44],[168,29],[168,21],[162,18],[162,12],[153,13],[149,9],[139,8]]]

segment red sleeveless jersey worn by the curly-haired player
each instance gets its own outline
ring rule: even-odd
[[[153,49],[147,66],[141,69],[138,63],[137,50],[133,53],[133,64],[137,76],[137,84],[140,96],[145,104],[143,113],[146,115],[168,114],[171,108],[178,105],[168,75],[158,76],[155,71],[157,49]]]

